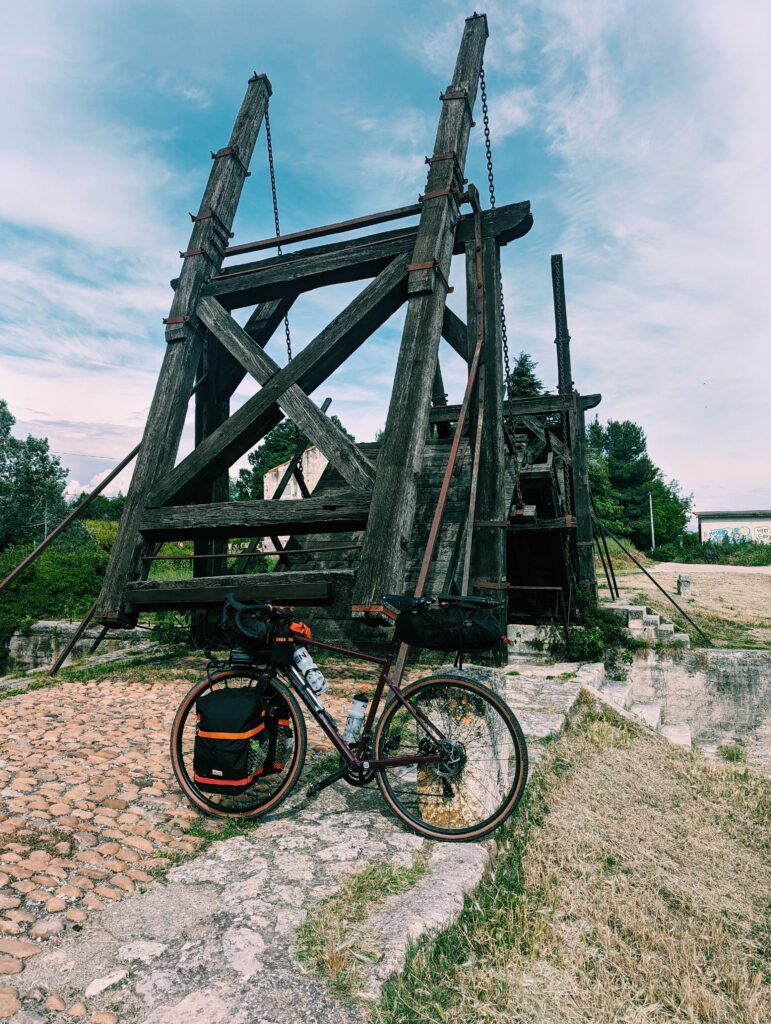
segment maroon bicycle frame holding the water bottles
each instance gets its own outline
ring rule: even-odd
[[[297,642],[299,643],[299,641]],[[375,693],[370,701],[367,718],[365,719],[365,724],[361,728],[361,736],[354,750],[351,750],[340,735],[332,717],[316,698],[312,690],[310,690],[310,688],[305,684],[304,679],[294,665],[290,665],[284,670],[285,675],[292,683],[293,689],[308,709],[313,720],[318,724],[318,727],[325,733],[327,738],[333,743],[340,757],[348,765],[351,765],[354,768],[362,768],[368,771],[370,769],[379,768],[397,768],[402,765],[435,764],[439,760],[438,754],[427,754],[419,757],[365,759],[363,755],[368,737],[372,735],[375,719],[377,718],[378,711],[380,710],[380,702],[386,686],[390,689],[394,698],[399,701],[402,708],[408,710],[410,715],[422,726],[423,729],[425,729],[429,736],[437,742],[445,738],[444,734],[440,729],[436,728],[433,722],[427,719],[419,709],[414,708],[409,700],[404,699],[401,694],[401,690],[399,689],[398,682],[391,679],[388,675],[397,646],[396,643],[392,644],[391,650],[386,657],[380,657],[376,654],[366,654],[363,651],[351,650],[348,647],[338,647],[335,644],[323,643],[320,640],[303,639],[302,644],[303,646],[307,644],[309,647],[318,647],[322,650],[329,650],[336,654],[345,654],[346,656],[359,662],[371,662],[374,665],[380,666],[380,676],[378,677],[378,682],[375,687]]]

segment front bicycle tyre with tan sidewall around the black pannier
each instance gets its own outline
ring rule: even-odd
[[[254,682],[254,677],[245,673],[243,669],[223,670],[222,672],[217,672],[200,679],[184,695],[174,716],[174,722],[171,727],[171,765],[182,793],[202,814],[219,818],[258,818],[274,810],[287,799],[297,784],[305,763],[307,750],[305,719],[303,718],[297,698],[291,689],[280,680],[272,678],[268,684],[266,695],[269,698],[271,692],[277,694],[286,701],[289,708],[294,737],[292,760],[284,771],[270,774],[265,779],[257,780],[246,793],[240,794],[234,798],[219,797],[220,801],[229,800],[229,803],[218,803],[218,795],[204,793],[200,790],[192,778],[191,771],[187,769],[183,748],[186,743],[189,749],[190,730],[188,729],[187,733],[185,733],[185,725],[199,697],[206,693],[207,690],[213,689],[217,684],[226,684],[231,680],[250,680]],[[191,752],[188,751],[188,753],[191,757]],[[265,787],[264,783],[268,779],[273,779],[276,784],[273,785],[270,783]],[[258,801],[257,803],[253,803],[255,799]]]

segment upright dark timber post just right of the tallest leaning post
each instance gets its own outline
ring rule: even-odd
[[[469,249],[472,252],[469,252]],[[468,324],[476,317],[476,289],[473,245],[467,248]],[[507,492],[504,459],[504,381],[503,340],[501,337],[501,250],[495,238],[482,239],[482,276],[484,281],[484,417],[479,453],[479,492],[472,548],[471,580],[474,590],[484,597],[500,597],[502,635],[507,621],[506,521]],[[476,407],[474,407],[476,408]],[[472,422],[472,431],[475,426]],[[487,525],[496,523],[497,525]],[[487,586],[480,587],[480,584]]]

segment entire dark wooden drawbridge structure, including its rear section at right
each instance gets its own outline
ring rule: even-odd
[[[165,608],[200,617],[234,592],[308,606],[325,639],[377,617],[384,593],[416,586],[505,595],[508,620],[531,622],[567,618],[574,587],[593,591],[584,413],[599,396],[582,398],[572,386],[559,257],[558,393],[505,398],[500,251],[532,217],[526,202],[482,210],[464,176],[486,38],[483,14],[466,20],[418,204],[232,245],[271,92],[264,75],[249,80],[180,254],[166,352],[95,607],[104,626],[130,627],[140,612]],[[410,226],[380,229],[410,218]],[[458,255],[467,268],[465,322],[445,305]],[[345,282],[366,284],[291,361],[276,364],[265,346],[298,297]],[[402,305],[383,438],[356,444],[309,396]],[[241,327],[231,313],[246,307]],[[446,403],[442,339],[470,367],[460,407]],[[231,411],[247,375],[259,389]],[[196,444],[177,461],[190,401]],[[319,484],[298,500],[229,501],[228,469],[284,417],[328,460]],[[296,460],[288,473],[295,470]],[[246,560],[228,570],[228,541],[280,536],[291,540],[275,571],[244,571]],[[159,546],[184,539],[195,541],[191,577],[148,580]]]

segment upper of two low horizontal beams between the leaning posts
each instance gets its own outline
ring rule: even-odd
[[[167,505],[146,509],[140,529],[151,541],[185,538],[280,537],[362,529],[370,496],[348,490],[286,501]]]

